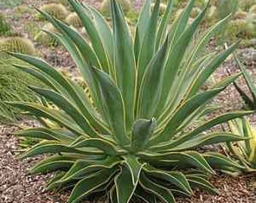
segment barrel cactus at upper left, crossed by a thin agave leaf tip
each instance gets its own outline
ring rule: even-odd
[[[51,23],[47,23],[46,25],[44,25],[43,29],[49,32],[58,32],[58,30]],[[38,34],[35,35],[34,40],[38,41],[40,44],[44,44],[50,47],[56,47],[58,45],[58,41],[56,41],[55,38],[52,38],[44,31],[38,32]]]

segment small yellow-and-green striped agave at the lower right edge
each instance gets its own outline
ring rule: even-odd
[[[226,149],[244,166],[241,172],[256,172],[256,129],[245,118],[229,121],[228,126],[233,134],[246,139],[228,142]]]

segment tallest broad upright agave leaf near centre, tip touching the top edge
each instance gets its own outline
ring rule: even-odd
[[[129,27],[123,17],[117,3],[112,1],[112,17],[114,26],[114,65],[117,86],[123,95],[123,103],[126,111],[126,128],[130,129],[134,120],[134,101],[136,91],[136,69],[133,53],[133,39],[130,36]]]

